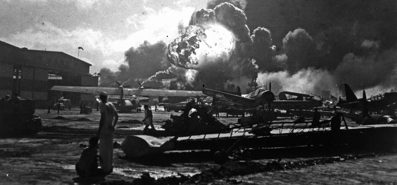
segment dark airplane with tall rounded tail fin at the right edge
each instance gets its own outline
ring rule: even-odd
[[[397,92],[385,92],[383,94],[372,95],[370,98],[366,98],[366,96],[364,96],[364,91],[363,98],[357,98],[349,85],[342,84],[339,89],[339,93],[341,96],[339,96],[339,102],[335,106],[350,109],[352,111],[362,110],[364,104],[366,104],[369,112],[380,113],[382,110],[387,109],[387,106],[397,103]]]

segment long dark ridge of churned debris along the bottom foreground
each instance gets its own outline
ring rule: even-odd
[[[394,152],[395,153],[395,152]],[[384,153],[387,154],[387,153]],[[242,183],[242,181],[237,181],[235,179],[230,179],[230,177],[238,176],[238,175],[248,175],[252,173],[263,173],[263,172],[272,172],[277,170],[293,170],[304,168],[307,166],[314,165],[324,165],[328,163],[334,162],[342,162],[345,160],[352,160],[357,158],[365,158],[365,157],[375,157],[376,154],[361,154],[357,156],[337,156],[337,157],[323,157],[323,158],[314,158],[309,160],[300,160],[295,162],[281,162],[281,159],[278,161],[270,160],[267,163],[262,163],[259,161],[230,161],[225,163],[224,165],[212,167],[208,170],[204,170],[201,173],[193,175],[192,177],[179,174],[180,177],[171,176],[171,177],[162,177],[158,179],[154,179],[150,177],[149,173],[143,173],[141,178],[134,179],[132,182],[120,180],[120,181],[112,181],[112,182],[102,182],[101,185],[172,185],[172,184],[208,184],[211,183],[214,179],[225,179],[225,181],[233,184]]]

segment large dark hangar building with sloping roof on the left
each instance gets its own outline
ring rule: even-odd
[[[37,108],[62,96],[73,105],[93,101],[93,95],[49,90],[54,85],[98,87],[98,76],[89,73],[90,66],[64,52],[29,50],[0,41],[0,98],[18,92],[21,98],[35,100]]]

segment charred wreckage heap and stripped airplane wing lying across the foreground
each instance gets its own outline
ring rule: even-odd
[[[266,93],[272,94],[271,91]],[[272,100],[267,99],[268,102]],[[196,112],[189,115],[192,108]],[[253,115],[239,119],[236,124],[224,125],[208,113],[206,107],[188,103],[181,116],[171,116],[173,121],[165,121],[162,137],[130,135],[121,143],[121,149],[129,157],[172,150],[212,150],[214,160],[222,162],[228,158],[238,158],[244,150],[260,148],[344,146],[358,151],[397,146],[395,120],[331,130],[331,119],[321,121],[320,127],[312,127],[311,121],[304,120],[275,122],[270,110],[269,105],[264,119]]]

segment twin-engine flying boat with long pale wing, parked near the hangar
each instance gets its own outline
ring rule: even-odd
[[[67,91],[67,92],[77,92],[83,94],[94,94],[98,95],[99,92],[105,91],[107,92],[108,98],[118,98],[118,102],[115,103],[116,108],[120,112],[129,112],[134,109],[139,109],[141,105],[139,104],[139,100],[147,100],[150,97],[158,97],[158,96],[183,96],[183,97],[205,97],[206,95],[200,91],[179,91],[179,90],[163,90],[163,89],[146,89],[149,87],[145,87],[140,84],[140,88],[138,89],[130,89],[125,88],[128,86],[124,86],[119,84],[119,87],[77,87],[77,86],[54,86],[51,90],[54,91]],[[141,97],[141,96],[149,96]]]

